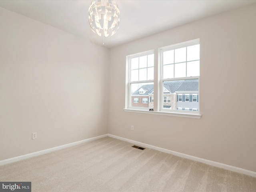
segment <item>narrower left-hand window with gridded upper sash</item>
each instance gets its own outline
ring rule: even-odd
[[[154,92],[154,51],[126,56],[126,60],[126,70],[128,70],[126,93],[129,98],[126,101],[126,106],[128,108],[154,108],[154,103],[150,102],[150,106],[148,104],[149,94]],[[134,102],[134,98],[138,98],[138,101],[142,102]]]

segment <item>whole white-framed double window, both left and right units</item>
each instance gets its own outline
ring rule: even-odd
[[[154,52],[126,56],[125,110],[144,113],[153,108],[153,114],[200,118],[199,39]]]

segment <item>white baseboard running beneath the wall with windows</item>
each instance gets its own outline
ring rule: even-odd
[[[242,168],[239,168],[239,167],[234,167],[234,166],[230,166],[230,165],[227,165],[227,164],[223,164],[223,163],[219,163],[219,162],[215,162],[215,161],[211,161],[211,160],[207,160],[207,159],[203,159],[203,158],[183,154],[183,153],[180,153],[180,152],[176,152],[176,151],[156,147],[156,146],[153,146],[153,145],[148,145],[148,144],[145,144],[145,143],[141,143],[141,142],[137,142],[137,141],[134,141],[134,140],[122,138],[122,137],[115,136],[115,135],[112,135],[112,134],[108,134],[108,136],[112,137],[112,138],[122,140],[122,141],[129,142],[129,143],[132,143],[132,144],[136,144],[136,145],[139,145],[139,146],[142,146],[142,147],[152,148],[152,149],[155,149],[155,150],[158,150],[158,151],[161,151],[161,152],[165,152],[165,153],[168,153],[168,154],[172,154],[172,155],[175,155],[175,156],[179,156],[179,157],[182,157],[182,158],[194,160],[194,161],[205,163],[205,164],[215,166],[215,167],[218,167],[218,168],[223,168],[223,169],[226,169],[226,170],[230,170],[230,171],[234,171],[234,172],[237,172],[237,173],[242,173],[242,174],[245,174],[245,175],[256,177],[256,172],[253,172],[253,171],[250,171],[250,170],[246,170],[246,169],[242,169]]]

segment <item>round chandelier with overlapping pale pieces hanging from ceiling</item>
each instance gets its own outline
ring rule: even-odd
[[[119,15],[118,5],[113,0],[93,0],[89,7],[90,27],[103,38],[112,36],[119,28]]]

